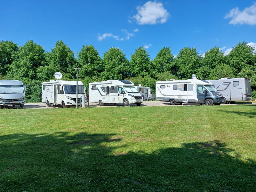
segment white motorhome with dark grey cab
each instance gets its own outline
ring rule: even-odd
[[[156,100],[169,101],[171,105],[175,105],[176,102],[220,105],[225,98],[212,87],[209,81],[188,79],[157,81]]]

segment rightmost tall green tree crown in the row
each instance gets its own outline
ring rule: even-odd
[[[228,54],[230,66],[236,68],[238,72],[240,72],[246,64],[255,65],[253,50],[253,47],[247,45],[246,42],[239,42]]]

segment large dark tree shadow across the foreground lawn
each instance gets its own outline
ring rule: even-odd
[[[255,191],[256,162],[218,140],[151,153],[124,153],[114,147],[121,140],[86,132],[0,136],[0,191]]]

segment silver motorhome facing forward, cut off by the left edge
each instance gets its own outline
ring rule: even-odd
[[[22,81],[0,80],[0,108],[7,105],[20,105],[23,108],[25,90],[26,86]]]

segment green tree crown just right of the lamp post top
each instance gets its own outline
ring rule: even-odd
[[[92,45],[83,45],[77,53],[77,58],[79,66],[81,66],[81,70],[79,70],[80,78],[100,75],[102,71],[100,54]]]

